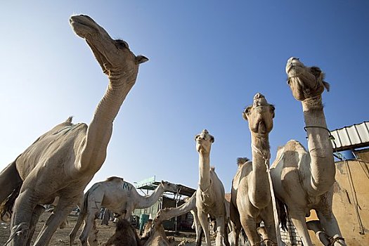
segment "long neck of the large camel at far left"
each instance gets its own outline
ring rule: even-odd
[[[109,75],[108,89],[96,107],[86,133],[79,161],[79,173],[95,174],[106,158],[106,149],[112,136],[112,122],[127,94],[136,82],[138,70]]]

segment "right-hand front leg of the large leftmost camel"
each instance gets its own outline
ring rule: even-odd
[[[53,211],[53,214],[48,217],[46,224],[44,224],[44,227],[37,236],[34,246],[48,245],[53,233],[55,233],[56,229],[58,229],[60,223],[65,220],[67,215],[70,214],[74,205],[75,202],[60,198],[56,209]]]

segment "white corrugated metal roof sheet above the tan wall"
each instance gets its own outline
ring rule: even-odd
[[[335,140],[333,148],[337,151],[351,150],[369,146],[369,122],[354,124],[330,131]]]

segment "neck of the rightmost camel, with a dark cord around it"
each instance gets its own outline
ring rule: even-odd
[[[311,188],[321,195],[335,182],[335,160],[321,97],[302,102],[311,157]]]

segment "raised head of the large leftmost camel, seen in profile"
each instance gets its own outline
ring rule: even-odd
[[[112,39],[103,27],[87,15],[72,15],[70,25],[75,34],[86,39],[106,75],[131,72],[136,78],[138,65],[148,60],[145,56],[135,56],[126,41]]]

